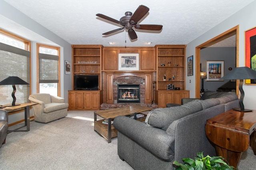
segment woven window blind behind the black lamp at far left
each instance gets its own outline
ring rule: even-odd
[[[0,81],[18,76],[30,84],[30,51],[0,43]],[[16,103],[28,103],[30,85],[16,85]],[[0,104],[12,103],[12,85],[0,86]]]

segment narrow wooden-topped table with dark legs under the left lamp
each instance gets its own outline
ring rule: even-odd
[[[4,107],[3,108],[4,110],[7,111],[7,113],[11,113],[11,112],[22,110],[22,109],[24,109],[24,112],[25,112],[25,124],[22,127],[27,127],[27,129],[26,130],[18,130],[18,129],[22,128],[22,127],[18,127],[17,129],[14,129],[14,130],[8,130],[8,133],[30,131],[30,122],[29,122],[30,110],[29,110],[29,107],[32,106],[32,105],[35,105],[35,104],[37,104],[37,103],[21,103],[18,106]],[[4,106],[9,106],[9,105],[4,105]]]

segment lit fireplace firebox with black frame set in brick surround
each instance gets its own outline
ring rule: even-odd
[[[117,103],[140,103],[140,84],[118,84]]]

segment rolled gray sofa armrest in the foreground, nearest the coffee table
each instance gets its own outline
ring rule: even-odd
[[[126,135],[158,158],[165,161],[173,159],[174,150],[171,146],[174,145],[174,137],[167,135],[166,131],[126,116],[116,117],[113,124],[118,132]]]

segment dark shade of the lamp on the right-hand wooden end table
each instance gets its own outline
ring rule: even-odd
[[[220,80],[256,79],[256,71],[249,67],[236,67]]]

